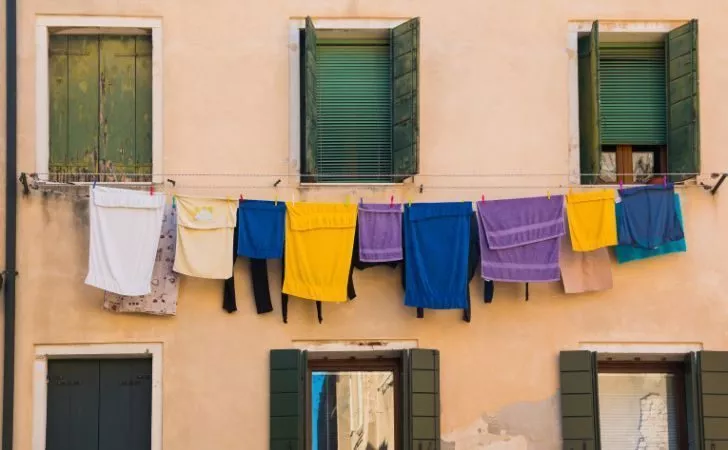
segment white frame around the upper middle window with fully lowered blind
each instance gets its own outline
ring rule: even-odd
[[[341,30],[367,30],[391,29],[402,25],[410,19],[313,19],[317,29]],[[300,29],[306,27],[305,18],[291,19],[288,22],[288,138],[289,168],[294,175],[301,176],[301,36]],[[374,185],[386,186],[401,183],[301,183],[315,184],[317,186],[352,186]]]

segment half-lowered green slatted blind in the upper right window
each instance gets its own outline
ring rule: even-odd
[[[600,43],[602,144],[664,145],[666,106],[663,43]]]

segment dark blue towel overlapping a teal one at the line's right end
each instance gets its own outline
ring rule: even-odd
[[[617,217],[619,245],[656,249],[685,237],[675,211],[672,185],[641,186],[619,193],[622,214]]]

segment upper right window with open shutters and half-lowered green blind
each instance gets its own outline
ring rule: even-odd
[[[672,181],[700,170],[698,24],[579,37],[583,183]]]

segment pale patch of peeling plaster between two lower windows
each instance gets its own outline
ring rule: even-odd
[[[442,438],[441,450],[558,450],[559,396],[508,405]]]

